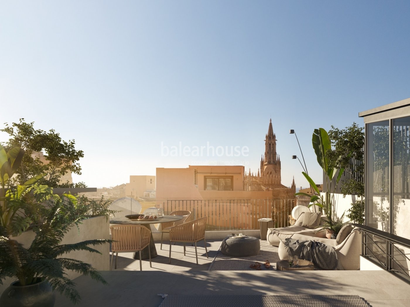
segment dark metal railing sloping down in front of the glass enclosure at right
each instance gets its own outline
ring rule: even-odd
[[[362,233],[362,256],[410,283],[410,240],[362,224],[353,225]]]

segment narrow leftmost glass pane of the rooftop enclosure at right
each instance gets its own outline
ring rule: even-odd
[[[366,138],[367,226],[390,233],[389,121],[367,124]]]

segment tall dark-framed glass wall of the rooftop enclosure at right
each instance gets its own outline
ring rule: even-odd
[[[410,239],[410,117],[366,125],[367,226]]]

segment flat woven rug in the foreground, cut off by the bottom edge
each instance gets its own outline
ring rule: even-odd
[[[169,295],[159,307],[369,307],[357,295]]]

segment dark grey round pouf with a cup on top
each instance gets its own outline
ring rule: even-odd
[[[223,239],[221,253],[227,256],[246,257],[257,255],[260,242],[255,237],[228,237]]]

